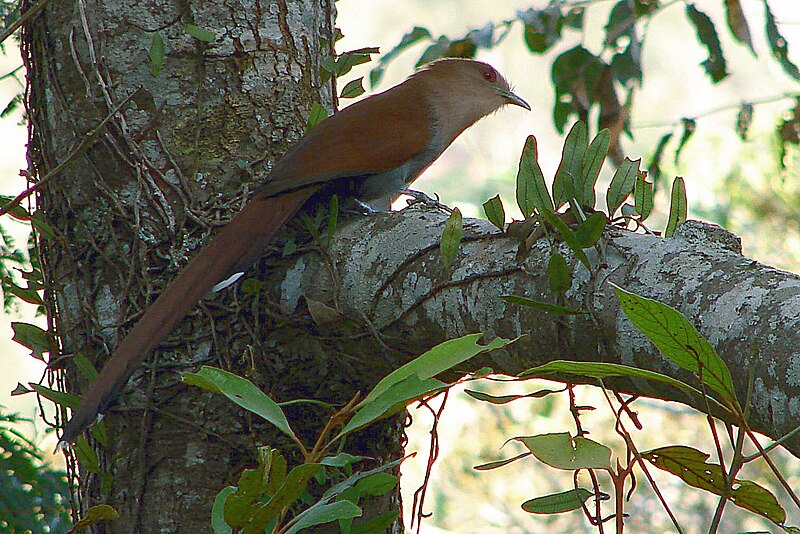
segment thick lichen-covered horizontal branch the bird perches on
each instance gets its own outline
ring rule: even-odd
[[[438,212],[409,209],[345,226],[327,252],[329,261],[305,255],[276,273],[282,276],[282,307],[296,309],[306,296],[335,305],[345,317],[366,317],[389,336],[413,331],[413,339],[402,343],[410,354],[468,332],[489,338],[529,334],[470,369],[488,364],[515,374],[550,360],[577,359],[633,365],[696,383],[627,320],[609,284],[614,282],[677,308],[695,324],[731,368],[742,403],[750,362],[755,362],[754,429],[778,438],[800,420],[800,279],[742,256],[738,238],[721,228],[690,221],[671,239],[607,231],[599,247],[587,250],[594,276],[573,262],[576,280],[568,300],[592,315],[563,318],[497,298],[513,294],[552,301],[546,240],[518,258],[514,240],[484,221],[469,220],[461,253],[447,273],[437,245],[445,219]],[[668,386],[614,384],[704,406]],[[800,439],[786,446],[800,456]]]

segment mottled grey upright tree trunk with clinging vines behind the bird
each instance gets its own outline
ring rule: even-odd
[[[332,107],[321,66],[333,54],[334,14],[333,0],[77,0],[51,2],[26,25],[31,174],[49,180],[37,228],[54,359],[82,354],[100,368],[302,135],[312,103]],[[120,513],[104,528],[208,531],[214,496],[254,465],[257,445],[291,450],[231,403],[182,385],[179,372],[222,366],[278,399],[353,395],[350,383],[326,388],[317,355],[276,356],[275,316],[268,301],[227,292],[199,306],[133,377],[106,418],[99,464],[80,470],[83,508]],[[86,378],[66,370],[67,388],[82,391]],[[309,440],[325,414],[291,415]],[[352,444],[355,454],[399,456],[397,421],[371,433],[364,447]]]

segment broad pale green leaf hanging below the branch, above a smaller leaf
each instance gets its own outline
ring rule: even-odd
[[[525,445],[540,462],[556,469],[611,469],[611,449],[569,432],[513,438]]]

